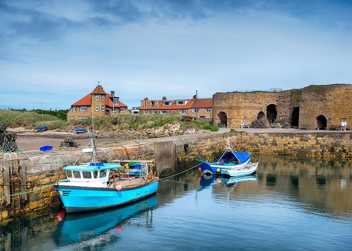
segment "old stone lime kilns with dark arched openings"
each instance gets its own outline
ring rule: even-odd
[[[346,120],[352,126],[352,85],[310,85],[280,92],[218,92],[213,95],[213,119],[229,127],[262,119],[270,126],[289,117],[299,129],[334,130]]]

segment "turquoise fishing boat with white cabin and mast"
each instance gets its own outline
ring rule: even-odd
[[[54,185],[67,213],[122,206],[156,193],[158,177],[152,177],[150,162],[140,161],[147,166],[144,175],[122,179],[128,164],[96,162],[93,137],[91,143],[83,152],[91,154],[92,162],[63,168],[67,180]]]

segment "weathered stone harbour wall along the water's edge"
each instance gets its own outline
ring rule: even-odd
[[[291,155],[319,159],[352,158],[352,134],[350,133],[284,134],[239,132],[231,134],[230,137],[234,151],[245,151],[259,156]],[[172,161],[174,161],[173,170],[162,169],[162,167],[158,167],[158,163],[155,163],[156,173],[166,177],[196,166],[199,164],[196,161],[197,159],[213,162],[225,150],[226,140],[227,135],[155,139],[155,142],[171,141],[174,145],[173,150],[172,148],[168,150],[172,151],[172,153],[167,155],[171,156]],[[189,146],[187,151],[185,150],[185,144]],[[97,154],[100,161],[112,161],[120,158],[154,161],[157,159],[152,140],[123,143],[123,145],[116,147],[100,149]],[[65,172],[62,168],[72,165],[80,155],[80,151],[73,151],[24,158],[28,190],[33,191],[42,188],[43,184],[52,184],[58,180],[65,179]],[[252,158],[252,161],[257,160],[255,157]],[[81,163],[90,161],[89,156],[86,155],[82,155],[79,160]],[[4,173],[0,172],[0,195],[4,195],[3,185]],[[20,190],[14,189],[12,192],[17,193]],[[2,198],[0,202],[0,220],[14,218],[20,214],[37,211],[60,203],[52,186],[29,193],[27,200],[24,200],[23,195],[21,195],[14,196],[9,205],[6,198]]]

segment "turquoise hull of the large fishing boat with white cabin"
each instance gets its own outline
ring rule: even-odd
[[[67,184],[67,183],[66,183]],[[67,213],[99,210],[122,206],[156,193],[158,180],[154,178],[142,185],[115,188],[69,186],[60,183],[54,188]]]

